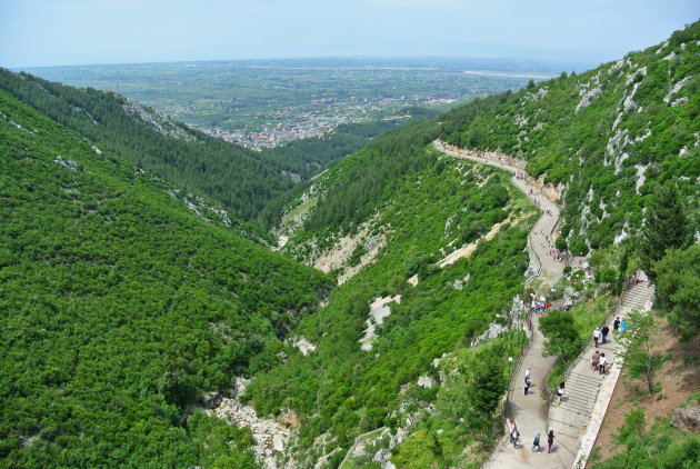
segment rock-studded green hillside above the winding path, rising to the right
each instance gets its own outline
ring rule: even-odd
[[[441,137],[499,150],[562,194],[576,255],[637,233],[653,188],[674,180],[700,226],[700,22],[581,74],[530,83]]]

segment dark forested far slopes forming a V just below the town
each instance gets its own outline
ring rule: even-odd
[[[171,121],[110,91],[74,88],[2,68],[0,88],[99,147],[249,221],[257,221],[266,204],[296,182],[402,123],[343,124],[324,137],[257,152]],[[433,116],[423,108],[407,111],[416,118]]]

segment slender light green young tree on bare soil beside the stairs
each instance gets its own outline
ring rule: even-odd
[[[628,316],[628,332],[622,336],[626,350],[622,358],[633,378],[643,377],[649,393],[653,392],[654,371],[661,366],[661,356],[651,350],[657,321],[648,312],[632,311]]]

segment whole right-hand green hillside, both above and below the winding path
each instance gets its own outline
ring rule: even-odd
[[[693,24],[668,43],[599,69],[562,73],[388,132],[312,181],[284,209],[283,250],[342,285],[297,329],[316,351],[290,348],[288,363],[254,377],[250,402],[262,413],[293,409],[301,422],[296,449],[309,460],[328,455],[331,467],[343,458],[339,448],[382,426],[409,437],[398,447],[396,440],[373,447],[391,447],[400,467],[478,460],[478,451],[477,459],[462,453],[489,427],[473,397],[481,392],[474,377],[483,379],[478,363],[488,360],[489,376],[498,378],[519,339],[507,333],[469,345],[497,316],[503,321],[523,292],[531,209],[497,172],[441,158],[429,143],[442,138],[522,158],[561,194],[561,248],[600,255],[591,260],[593,283],[574,272],[557,286],[558,295],[580,291],[591,303],[577,315],[603,320],[599,305],[614,290],[618,269],[622,278],[628,269],[620,260],[624,249],[613,245],[641,229],[656,187],[678,181],[696,227],[700,220],[698,31]],[[492,241],[441,268],[446,253],[501,221]],[[390,315],[373,323],[368,317],[380,300],[389,301]],[[368,349],[363,337],[372,328],[378,337]],[[451,366],[432,362],[442,353]],[[423,387],[438,372],[433,366],[459,378]],[[420,417],[421,409],[432,417]]]

